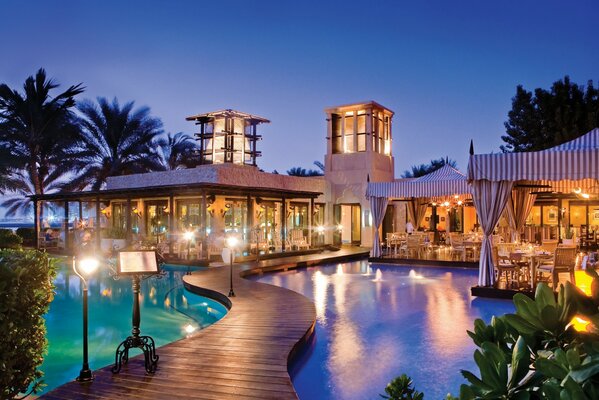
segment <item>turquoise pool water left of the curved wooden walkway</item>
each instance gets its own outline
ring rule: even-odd
[[[44,393],[76,378],[83,360],[82,288],[69,267],[63,265],[59,269],[56,294],[46,315],[49,345],[41,369],[48,386]],[[140,291],[141,334],[152,336],[156,347],[186,337],[187,325],[201,329],[227,312],[222,304],[183,288],[181,278],[187,267],[166,265],[163,270],[166,275],[161,278],[142,281]],[[133,308],[131,278],[114,280],[106,268],[96,275],[89,281],[88,291],[92,370],[114,364],[118,344],[131,333]],[[131,351],[132,356],[139,353],[138,349]]]

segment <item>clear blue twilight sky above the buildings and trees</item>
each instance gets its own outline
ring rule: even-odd
[[[369,4],[372,3],[372,4]],[[44,67],[80,98],[151,107],[170,132],[234,108],[269,118],[259,166],[313,168],[328,106],[396,112],[396,176],[498,151],[516,85],[599,79],[599,2],[3,1],[0,82]]]

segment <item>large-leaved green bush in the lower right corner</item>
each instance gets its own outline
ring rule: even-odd
[[[459,399],[599,399],[599,276],[587,274],[591,296],[566,282],[556,299],[541,283],[534,300],[514,296],[515,314],[493,317],[489,325],[477,319],[468,335],[478,347],[479,374],[462,371],[469,384],[460,387]],[[575,316],[589,321],[586,331],[574,329]]]

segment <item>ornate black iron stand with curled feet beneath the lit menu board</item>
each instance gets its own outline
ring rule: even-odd
[[[118,374],[123,364],[129,361],[129,349],[138,348],[144,352],[146,371],[150,374],[156,372],[158,356],[156,355],[156,346],[154,339],[150,336],[139,336],[139,275],[133,276],[133,329],[131,336],[123,340],[116,349],[114,367],[112,373]]]

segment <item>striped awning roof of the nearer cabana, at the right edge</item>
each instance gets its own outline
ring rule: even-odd
[[[543,151],[475,154],[468,180],[580,181],[599,177],[599,129]],[[580,186],[579,183],[574,185]],[[571,186],[571,185],[566,185]]]

